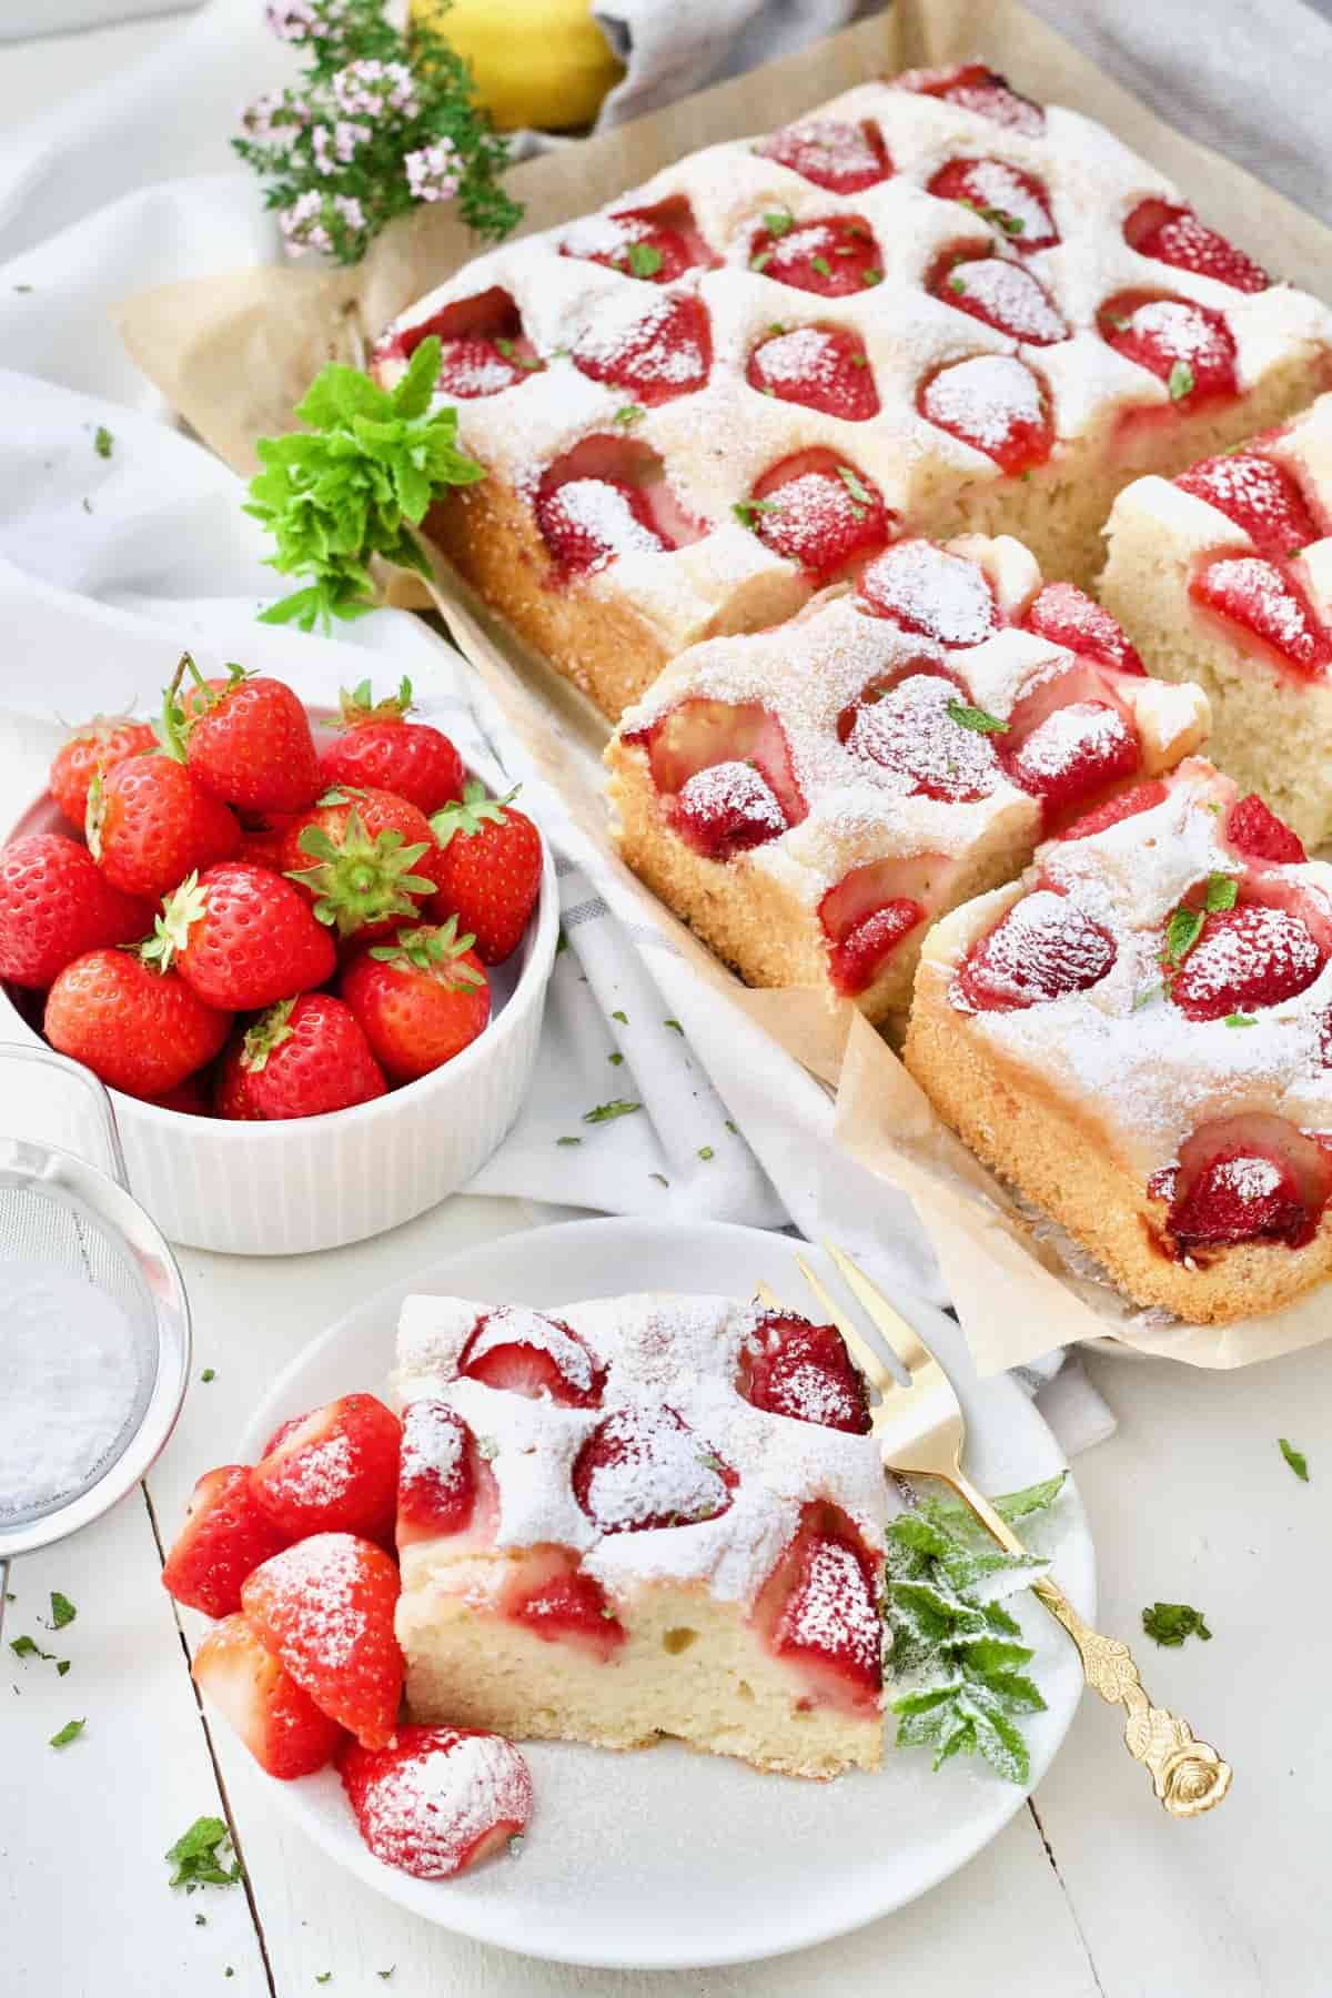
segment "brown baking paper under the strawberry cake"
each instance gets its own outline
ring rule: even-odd
[[[1192,192],[1210,222],[1332,298],[1332,232],[1238,166],[1160,124],[1068,42],[1010,0],[897,0],[813,50],[673,104],[637,124],[515,168],[523,234],[599,208],[681,154],[767,132],[869,76],[981,56],[1018,90],[1100,120]],[[328,360],[359,364],[379,330],[475,254],[449,208],[393,224],[351,272],[262,268],[160,286],[116,322],[146,376],[236,472],[254,440],[294,426],[294,406]],[[429,523],[427,523],[429,525]],[[617,859],[597,755],[605,721],[439,559],[429,585],[385,573],[391,603],[433,603],[573,823],[727,1003],[837,1089],[843,1149],[915,1203],[983,1373],[1054,1345],[1114,1337],[1196,1367],[1244,1367],[1326,1335],[1326,1301],[1230,1327],[1156,1323],[1108,1285],[1076,1277],[1036,1239],[1006,1191],[949,1133],[883,1039],[849,1005],[815,991],[751,991]]]

